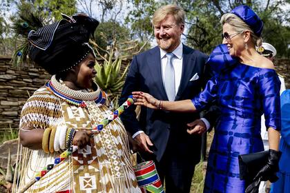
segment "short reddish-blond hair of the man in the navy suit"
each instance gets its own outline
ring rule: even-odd
[[[154,12],[152,19],[153,25],[160,23],[168,14],[174,17],[177,25],[184,24],[184,10],[175,4],[170,4],[162,6]]]

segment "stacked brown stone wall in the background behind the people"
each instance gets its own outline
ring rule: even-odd
[[[35,65],[17,68],[10,65],[10,60],[10,57],[0,57],[0,132],[18,128],[23,104],[50,78],[45,70]],[[285,79],[286,88],[290,88],[290,59],[276,59],[274,63]]]

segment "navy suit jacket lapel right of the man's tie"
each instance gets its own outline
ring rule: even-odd
[[[187,84],[189,83],[189,80],[194,75],[193,69],[195,67],[195,57],[193,57],[193,50],[187,47],[186,45],[183,45],[183,60],[182,60],[182,79],[180,81],[180,88],[178,89],[178,92],[175,96],[175,101],[180,99],[180,96],[182,96],[182,92],[184,92],[184,89],[186,88]]]

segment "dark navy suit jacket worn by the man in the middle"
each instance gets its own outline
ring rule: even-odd
[[[200,93],[209,79],[208,73],[205,72],[205,63],[208,58],[206,54],[183,45],[182,57],[182,79],[175,101],[192,99],[193,96]],[[196,73],[199,79],[190,81]],[[133,91],[148,92],[156,99],[168,101],[162,83],[159,47],[142,52],[133,58],[119,103],[122,104],[126,101],[128,95]],[[190,135],[186,132],[186,123],[200,118],[198,112],[176,113],[142,107],[139,121],[135,117],[135,105],[121,115],[128,132],[134,134],[143,130],[148,134],[154,143],[153,152],[157,161],[160,161],[166,148],[170,148],[171,153],[176,156],[189,159],[193,163],[200,161],[201,136]],[[207,119],[209,118],[211,116],[207,117]],[[211,119],[209,121],[212,122]]]

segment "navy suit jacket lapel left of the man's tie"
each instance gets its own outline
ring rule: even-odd
[[[161,95],[163,100],[168,100],[162,81],[160,48],[156,46],[155,48],[151,49],[149,53],[150,56],[147,57],[147,63],[152,75],[152,79],[156,80],[156,85],[159,92],[158,94]]]

